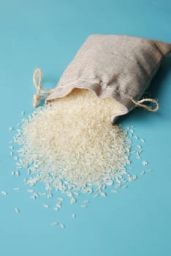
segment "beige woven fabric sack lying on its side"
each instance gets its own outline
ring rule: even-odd
[[[171,44],[153,39],[95,34],[88,37],[64,71],[46,102],[64,97],[74,88],[113,97],[121,104],[119,115],[134,108],[159,69]]]

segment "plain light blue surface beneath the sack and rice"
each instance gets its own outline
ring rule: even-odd
[[[171,56],[165,59],[148,93],[159,99],[158,113],[134,110],[121,119],[145,138],[144,158],[153,173],[140,176],[118,195],[91,201],[86,210],[66,204],[61,213],[30,200],[20,178],[11,176],[8,127],[32,112],[32,73],[42,67],[45,87],[56,85],[89,34],[129,34],[171,42],[168,0],[1,1],[0,255],[171,255],[170,144]],[[140,165],[133,163],[140,173]],[[21,187],[22,192],[13,192]],[[46,202],[47,203],[47,202]],[[15,214],[18,206],[20,214]],[[70,214],[76,211],[77,218]],[[66,223],[66,229],[50,222]]]

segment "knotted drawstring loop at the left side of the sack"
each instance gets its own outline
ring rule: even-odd
[[[37,79],[38,79],[38,82],[37,82]],[[48,94],[51,94],[53,92],[53,89],[49,90],[49,91],[45,91],[45,90],[41,89],[42,69],[40,69],[40,68],[34,70],[33,83],[37,89],[37,93],[34,94],[34,97],[33,97],[33,106],[34,106],[34,108],[36,108],[37,105],[39,104],[39,99],[41,99],[43,97],[47,97]]]

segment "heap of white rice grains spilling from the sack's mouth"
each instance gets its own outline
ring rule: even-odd
[[[28,169],[26,183],[43,181],[47,190],[66,194],[119,183],[128,174],[131,140],[121,125],[111,123],[114,115],[112,98],[74,89],[23,118],[15,143],[20,145],[17,166]]]

